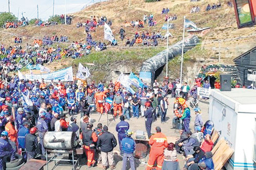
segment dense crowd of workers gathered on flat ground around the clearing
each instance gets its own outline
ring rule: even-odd
[[[176,82],[179,84],[178,80]],[[108,165],[114,169],[113,149],[118,141],[120,154],[123,155],[122,169],[126,169],[127,159],[130,160],[131,169],[135,169],[133,152],[136,142],[131,137],[133,132],[129,120],[141,116],[145,117],[145,128],[151,145],[147,169],[152,168],[155,161],[156,169],[165,167],[167,170],[178,166],[177,153],[186,156],[185,168],[200,169],[201,166],[206,166],[213,169],[212,154],[209,152],[213,146],[210,135],[214,124],[211,121],[204,123],[201,110],[196,108],[193,126],[195,133],[191,133],[191,113],[186,104],[187,94],[190,92],[187,83],[180,87],[182,94],[173,96],[173,128],[180,129],[180,139],[176,143],[167,143],[167,137],[161,133],[160,127],[156,127],[156,133],[151,135],[153,121],[161,117],[161,123],[166,123],[168,95],[173,91],[169,88],[172,86],[170,84],[173,83],[168,79],[161,84],[155,80],[153,89],[145,84],[132,94],[118,81],[109,81],[108,84],[102,81],[95,84],[92,81],[87,84],[86,81],[52,80],[46,83],[44,79],[40,82],[24,80],[13,74],[0,79],[0,141],[5,141],[5,147],[8,146],[7,155],[11,156],[13,162],[16,161],[14,154],[19,150],[24,161],[35,158],[38,153],[44,159],[46,150],[42,140],[46,131],[73,131],[77,134],[77,140],[78,137],[82,140],[88,167],[102,162],[103,169],[107,169]],[[93,129],[90,115],[94,110],[98,114],[112,113],[114,117],[120,117],[115,128],[118,140],[112,134],[114,132],[108,131],[107,125],[98,123]],[[65,112],[70,115],[70,122],[66,121]],[[78,114],[81,115],[80,123],[76,121]],[[36,132],[39,134],[39,141],[35,136]],[[1,144],[0,150],[3,147]],[[0,168],[3,166],[1,163],[2,161]]]

